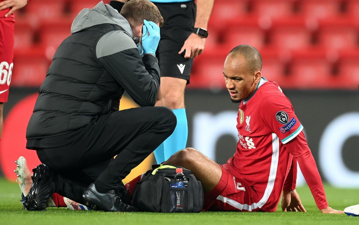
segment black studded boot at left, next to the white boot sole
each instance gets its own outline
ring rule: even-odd
[[[24,207],[29,211],[45,211],[46,202],[54,192],[50,183],[50,169],[40,164],[32,171],[32,185],[25,197]]]

